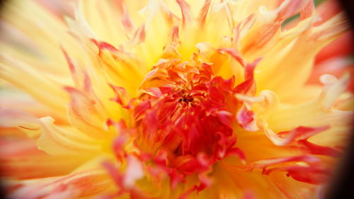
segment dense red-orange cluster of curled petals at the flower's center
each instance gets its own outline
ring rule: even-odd
[[[236,142],[233,86],[234,78],[214,76],[205,63],[156,65],[134,110],[137,147],[155,156],[166,154],[174,168],[198,156],[209,162],[224,159]]]

